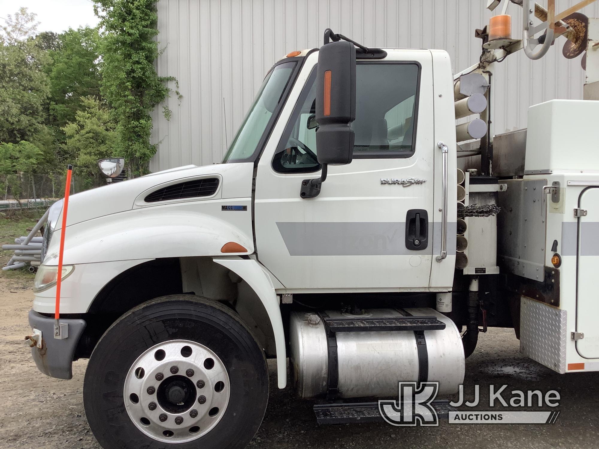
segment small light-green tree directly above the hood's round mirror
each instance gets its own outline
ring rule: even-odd
[[[108,108],[93,96],[81,98],[83,109],[75,113],[75,121],[62,128],[66,135],[65,153],[84,177],[84,187],[101,185],[96,163],[105,157],[117,157],[117,134]]]

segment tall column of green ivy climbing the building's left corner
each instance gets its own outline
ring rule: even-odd
[[[158,57],[156,0],[95,0],[101,19],[102,87],[117,119],[117,153],[132,174],[145,174],[156,145],[150,144],[153,108],[170,94],[154,68]],[[165,110],[165,116],[170,111]]]

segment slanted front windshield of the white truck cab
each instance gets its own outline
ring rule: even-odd
[[[289,83],[295,64],[296,62],[279,64],[268,72],[262,86],[260,86],[258,95],[256,95],[254,104],[247,113],[246,119],[241,124],[226,153],[223,163],[243,162],[252,159],[256,150],[258,150],[262,135],[267,130],[274,110],[282,101],[283,92],[285,92],[285,87]]]

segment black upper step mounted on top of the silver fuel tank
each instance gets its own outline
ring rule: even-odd
[[[437,317],[394,318],[337,318],[322,313],[322,319],[330,332],[383,332],[386,330],[443,330],[445,323]]]

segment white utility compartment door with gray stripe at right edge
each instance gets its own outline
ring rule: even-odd
[[[580,194],[579,207],[587,214],[578,219],[578,250],[576,279],[576,331],[585,334],[576,341],[582,357],[599,357],[599,293],[595,286],[599,266],[599,187],[589,187]]]

